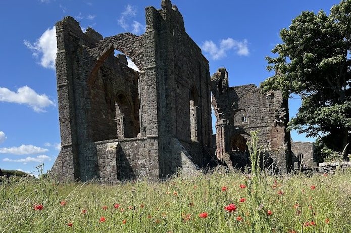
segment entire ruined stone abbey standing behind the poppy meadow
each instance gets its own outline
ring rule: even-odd
[[[145,9],[146,32],[103,37],[82,32],[72,17],[56,24],[61,152],[52,168],[59,180],[116,183],[147,176],[165,179],[179,169],[196,174],[218,163],[249,164],[249,131],[281,173],[313,167],[310,143],[292,143],[287,100],[255,85],[228,86],[185,31],[170,0]],[[128,56],[139,72],[127,66]],[[211,94],[212,92],[212,94]],[[216,116],[212,133],[211,106]]]

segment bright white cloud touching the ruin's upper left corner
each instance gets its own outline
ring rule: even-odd
[[[33,52],[35,58],[40,57],[40,65],[45,68],[55,69],[57,54],[56,28],[48,28],[34,43],[28,40],[24,44]]]

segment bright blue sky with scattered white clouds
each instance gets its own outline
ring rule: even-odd
[[[161,7],[161,0],[12,0],[0,1],[0,168],[50,169],[59,153],[60,130],[56,90],[55,23],[72,16],[82,29],[94,28],[104,37],[130,31],[142,34],[144,8]],[[266,56],[279,43],[279,31],[302,11],[329,14],[339,1],[173,0],[185,28],[203,49],[210,72],[226,67],[229,85],[260,82]],[[299,107],[289,100],[290,117]],[[291,133],[293,141],[314,141]]]

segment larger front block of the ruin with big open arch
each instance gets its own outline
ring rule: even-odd
[[[178,9],[161,5],[145,9],[140,36],[83,33],[72,17],[56,24],[59,180],[165,178],[214,162],[209,63]]]

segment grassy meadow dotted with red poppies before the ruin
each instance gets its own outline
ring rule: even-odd
[[[214,172],[114,186],[11,177],[0,184],[0,232],[351,232],[350,221],[350,171]]]

